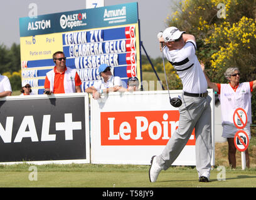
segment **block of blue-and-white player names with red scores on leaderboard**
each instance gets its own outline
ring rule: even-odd
[[[114,68],[115,76],[123,71],[136,69],[135,27],[119,27],[93,31],[63,33],[63,51],[68,59],[68,66],[80,69],[78,74],[82,81],[87,81],[85,88],[99,78],[100,64]],[[129,70],[130,69],[130,70]],[[124,74],[127,76],[127,73]],[[123,75],[123,76],[124,76]]]

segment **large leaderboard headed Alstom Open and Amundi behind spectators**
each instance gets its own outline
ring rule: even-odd
[[[100,79],[100,64],[112,74],[141,79],[137,2],[19,19],[22,81],[42,94],[52,55],[63,51],[67,66],[77,70],[82,91]]]

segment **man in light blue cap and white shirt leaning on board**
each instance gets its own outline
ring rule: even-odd
[[[99,99],[103,93],[110,93],[116,91],[127,91],[122,87],[122,81],[119,76],[113,76],[110,66],[101,64],[99,67],[99,74],[101,79],[96,81],[93,86],[85,89],[85,92],[92,93],[93,99]]]

